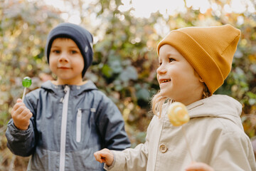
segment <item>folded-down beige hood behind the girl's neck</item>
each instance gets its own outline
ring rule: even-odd
[[[191,118],[225,118],[241,126],[242,105],[228,95],[212,95],[186,106]]]

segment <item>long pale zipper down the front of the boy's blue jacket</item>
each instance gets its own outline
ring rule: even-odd
[[[63,98],[63,113],[61,118],[61,130],[60,130],[60,171],[65,170],[65,142],[66,142],[66,130],[68,120],[68,98],[70,94],[70,87],[65,86],[65,96]]]

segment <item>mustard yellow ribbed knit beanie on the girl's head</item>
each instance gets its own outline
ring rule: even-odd
[[[206,83],[210,95],[223,85],[230,73],[240,30],[224,26],[187,27],[171,31],[157,46],[176,48]]]

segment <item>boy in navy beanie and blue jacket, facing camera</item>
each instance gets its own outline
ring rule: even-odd
[[[103,170],[93,152],[130,146],[118,108],[92,81],[92,35],[75,24],[50,31],[46,57],[56,81],[17,100],[6,130],[15,155],[32,155],[28,170]]]

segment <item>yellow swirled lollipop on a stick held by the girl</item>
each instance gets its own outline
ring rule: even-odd
[[[188,121],[189,121],[189,115],[188,115],[188,110],[186,109],[186,106],[183,105],[183,103],[179,103],[179,102],[171,103],[171,105],[169,106],[169,108],[167,110],[167,115],[168,115],[168,118],[169,118],[170,123],[172,125],[181,126],[181,128],[183,130],[184,138],[186,140],[186,145],[188,147],[188,152],[189,152],[189,155],[190,155],[191,160],[193,162],[194,160],[193,160],[193,157],[192,157],[192,154],[191,154],[191,150],[190,150],[190,147],[189,147],[189,144],[188,144],[188,140],[186,138],[186,130],[182,126],[183,124],[188,123]]]

